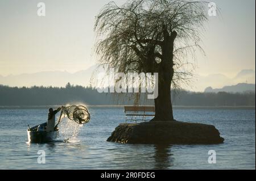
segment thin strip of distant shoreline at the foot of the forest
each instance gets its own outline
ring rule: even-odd
[[[127,105],[87,105],[88,108],[123,108]],[[0,110],[45,110],[60,106],[0,106]],[[255,106],[174,106],[174,110],[255,110]]]

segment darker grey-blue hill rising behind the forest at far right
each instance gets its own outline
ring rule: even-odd
[[[212,87],[207,87],[205,92],[255,92],[255,84],[249,83],[238,83],[235,86],[225,86],[222,89],[212,89]]]

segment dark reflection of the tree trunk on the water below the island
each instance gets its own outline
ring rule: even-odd
[[[155,145],[155,168],[157,170],[168,169],[172,166],[171,145]]]

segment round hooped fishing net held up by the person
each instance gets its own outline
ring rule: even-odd
[[[90,121],[90,113],[84,106],[67,106],[63,107],[63,112],[68,116],[68,119],[75,121],[78,124],[86,124]]]

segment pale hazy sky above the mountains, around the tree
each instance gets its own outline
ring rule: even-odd
[[[46,16],[37,4],[46,3]],[[96,63],[94,18],[109,0],[0,0],[0,75],[47,70],[75,72]],[[125,0],[115,1],[122,4]],[[215,0],[197,73],[233,77],[255,69],[255,1]]]

